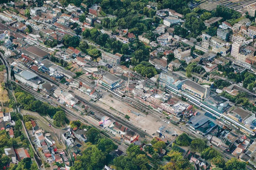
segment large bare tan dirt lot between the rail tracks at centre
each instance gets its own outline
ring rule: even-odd
[[[87,101],[91,99],[91,97],[89,97],[85,93],[80,92],[79,90],[72,89],[72,91],[77,95],[80,95]],[[99,101],[93,104],[107,110],[113,115],[120,117],[121,119],[129,122],[130,124],[132,124],[137,128],[142,129],[143,131],[146,130],[146,132],[151,135],[156,134],[156,131],[162,125],[165,127],[163,133],[166,134],[167,138],[170,138],[170,140],[172,140],[173,138],[172,134],[181,134],[183,132],[179,127],[171,123],[168,124],[168,121],[165,118],[158,119],[157,117],[154,117],[154,115],[150,115],[150,114],[145,115],[139,110],[131,108],[130,106],[128,106],[127,103],[121,102],[118,99],[111,97],[110,94],[111,93],[109,92],[105,93],[104,98],[101,98]],[[129,112],[130,109],[133,112],[138,113],[140,115],[137,116],[134,113]],[[99,118],[103,116],[102,114],[96,114],[96,115],[99,116]],[[125,118],[125,115],[128,115],[130,117],[129,120]],[[166,133],[165,130],[167,130],[169,133]]]

